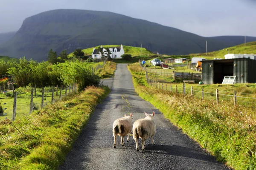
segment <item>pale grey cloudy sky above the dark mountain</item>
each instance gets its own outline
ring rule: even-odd
[[[110,11],[204,37],[256,37],[256,0],[0,0],[0,33],[53,9]]]

